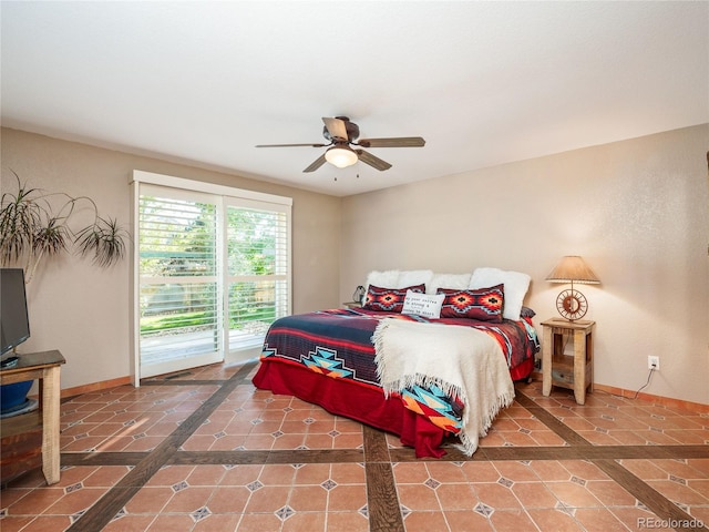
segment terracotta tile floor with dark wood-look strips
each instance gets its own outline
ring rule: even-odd
[[[472,458],[209,366],[62,403],[62,477],[0,492],[13,531],[709,530],[709,413],[517,385]]]

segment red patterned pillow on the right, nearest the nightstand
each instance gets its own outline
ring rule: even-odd
[[[502,321],[505,301],[504,285],[490,288],[469,288],[467,290],[439,288],[439,294],[445,294],[441,307],[442,318]]]

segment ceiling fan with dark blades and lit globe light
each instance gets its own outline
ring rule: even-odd
[[[315,172],[326,162],[333,164],[338,168],[345,168],[357,163],[357,161],[369,164],[379,171],[384,171],[391,168],[391,164],[366,152],[362,147],[421,147],[425,145],[425,141],[420,136],[360,139],[358,141],[359,126],[354,122],[350,122],[347,116],[323,117],[322,122],[325,122],[322,136],[329,141],[327,144],[258,144],[256,147],[327,147],[322,155],[304,170],[304,172]]]

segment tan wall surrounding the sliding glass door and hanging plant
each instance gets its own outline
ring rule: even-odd
[[[337,306],[340,198],[16,130],[1,135],[2,192],[16,191],[11,168],[33,187],[92,197],[104,216],[126,226],[133,170],[292,197],[294,311]],[[106,270],[63,256],[30,284],[32,337],[22,349],[60,349],[62,388],[130,374],[129,268],[129,260]]]

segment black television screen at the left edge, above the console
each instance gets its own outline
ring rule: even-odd
[[[24,272],[21,268],[0,268],[0,355],[30,337]]]

